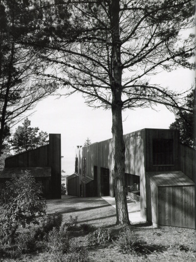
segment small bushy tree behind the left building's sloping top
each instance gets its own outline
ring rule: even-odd
[[[16,129],[13,139],[10,140],[12,149],[16,153],[21,153],[23,151],[46,145],[49,142],[47,132],[41,131],[38,134],[38,131],[38,127],[30,127],[30,120],[26,118],[23,122],[23,126],[19,126]]]

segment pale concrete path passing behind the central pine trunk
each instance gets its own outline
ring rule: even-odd
[[[116,209],[115,198],[110,196],[101,197],[106,202],[108,202],[112,207]],[[140,202],[132,202],[130,199],[127,199],[127,208],[129,214],[129,220],[132,223],[145,222],[146,220],[140,216]]]

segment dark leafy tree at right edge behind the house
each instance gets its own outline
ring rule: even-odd
[[[196,88],[186,96],[186,101],[187,106],[193,112],[177,111],[175,121],[170,125],[170,129],[178,129],[181,143],[196,149]]]

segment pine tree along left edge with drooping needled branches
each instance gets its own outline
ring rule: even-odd
[[[39,68],[39,52],[20,43],[38,26],[35,1],[0,1],[0,152],[6,129],[24,118],[41,99],[51,94],[56,84],[33,79]],[[43,66],[43,65],[42,65]],[[5,128],[6,127],[6,128]]]

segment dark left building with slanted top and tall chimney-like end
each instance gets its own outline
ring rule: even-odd
[[[43,184],[46,198],[61,198],[61,135],[49,134],[49,144],[7,157],[0,174],[0,184],[10,180],[13,174],[29,170],[36,181]]]

